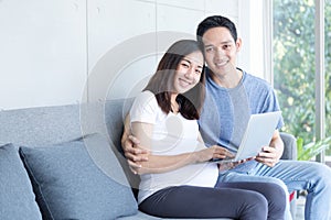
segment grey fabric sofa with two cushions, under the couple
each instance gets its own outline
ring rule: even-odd
[[[118,99],[1,111],[0,219],[159,219],[138,211],[139,178],[122,156],[130,105]],[[295,138],[281,138],[284,158],[295,160]]]

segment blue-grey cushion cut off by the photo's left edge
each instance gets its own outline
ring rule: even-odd
[[[0,219],[42,219],[18,148],[0,146]]]

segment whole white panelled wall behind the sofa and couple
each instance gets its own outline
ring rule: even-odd
[[[132,96],[160,54],[178,38],[195,38],[206,15],[231,18],[241,34],[245,2],[1,0],[0,109]],[[244,47],[239,66],[245,68],[248,54]]]

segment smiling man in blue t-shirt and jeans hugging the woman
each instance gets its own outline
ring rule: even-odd
[[[234,23],[224,16],[209,16],[197,26],[207,64],[206,99],[201,118],[200,131],[206,145],[217,144],[228,150],[239,145],[244,129],[252,113],[279,110],[273,88],[263,79],[236,68],[236,55],[242,40],[237,37]],[[278,128],[282,125],[280,120]],[[148,154],[131,142],[122,144],[131,168],[139,169],[139,161]],[[306,220],[329,220],[331,208],[331,169],[314,162],[281,161],[284,143],[278,130],[269,146],[254,161],[220,173],[222,182],[270,182],[288,191],[307,190]],[[290,219],[290,217],[288,217]]]

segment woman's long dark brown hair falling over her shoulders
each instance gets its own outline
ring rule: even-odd
[[[161,58],[156,74],[151,77],[143,90],[156,95],[158,105],[163,112],[171,111],[171,94],[174,91],[174,75],[180,62],[191,53],[201,52],[194,40],[181,40],[172,44]],[[202,53],[203,54],[203,53]],[[205,97],[204,61],[200,81],[189,91],[179,94],[177,102],[180,113],[189,120],[199,119]]]

